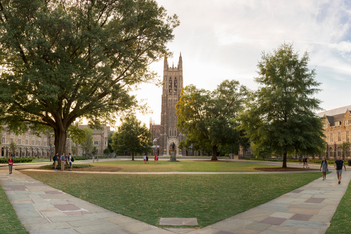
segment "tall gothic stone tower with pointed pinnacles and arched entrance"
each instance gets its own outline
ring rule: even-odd
[[[167,58],[163,66],[163,88],[161,96],[161,123],[155,124],[150,119],[150,130],[154,141],[154,152],[160,156],[170,155],[172,143],[176,145],[176,155],[186,156],[185,149],[178,149],[179,142],[185,139],[176,127],[178,117],[176,115],[176,104],[180,100],[180,91],[183,88],[183,61],[179,56],[178,67],[168,66]]]

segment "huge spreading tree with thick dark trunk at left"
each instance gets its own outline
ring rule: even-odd
[[[0,0],[0,125],[53,129],[60,154],[73,121],[145,110],[129,93],[160,85],[148,65],[172,55],[178,25],[153,0]]]

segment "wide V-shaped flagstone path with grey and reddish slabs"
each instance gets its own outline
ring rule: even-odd
[[[42,170],[41,170],[42,171]],[[322,174],[322,173],[321,173]],[[293,177],[292,177],[293,179]],[[162,229],[47,186],[18,171],[0,183],[31,234],[322,234],[330,225],[351,173],[319,178],[272,201],[201,229]]]

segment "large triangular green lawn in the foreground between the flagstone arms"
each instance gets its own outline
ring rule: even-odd
[[[277,198],[322,173],[121,175],[22,171],[49,186],[131,218],[197,218],[205,227]],[[167,227],[167,226],[161,226]],[[168,226],[171,227],[171,226]],[[177,226],[179,227],[179,226]]]

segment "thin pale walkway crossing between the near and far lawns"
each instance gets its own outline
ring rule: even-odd
[[[20,171],[32,172],[52,172],[52,173],[90,173],[90,174],[135,174],[135,175],[203,175],[203,174],[271,174],[271,173],[302,173],[302,172],[318,172],[318,171],[296,171],[296,172],[84,172],[84,171],[57,171],[54,170],[37,170],[37,169],[21,169]]]

